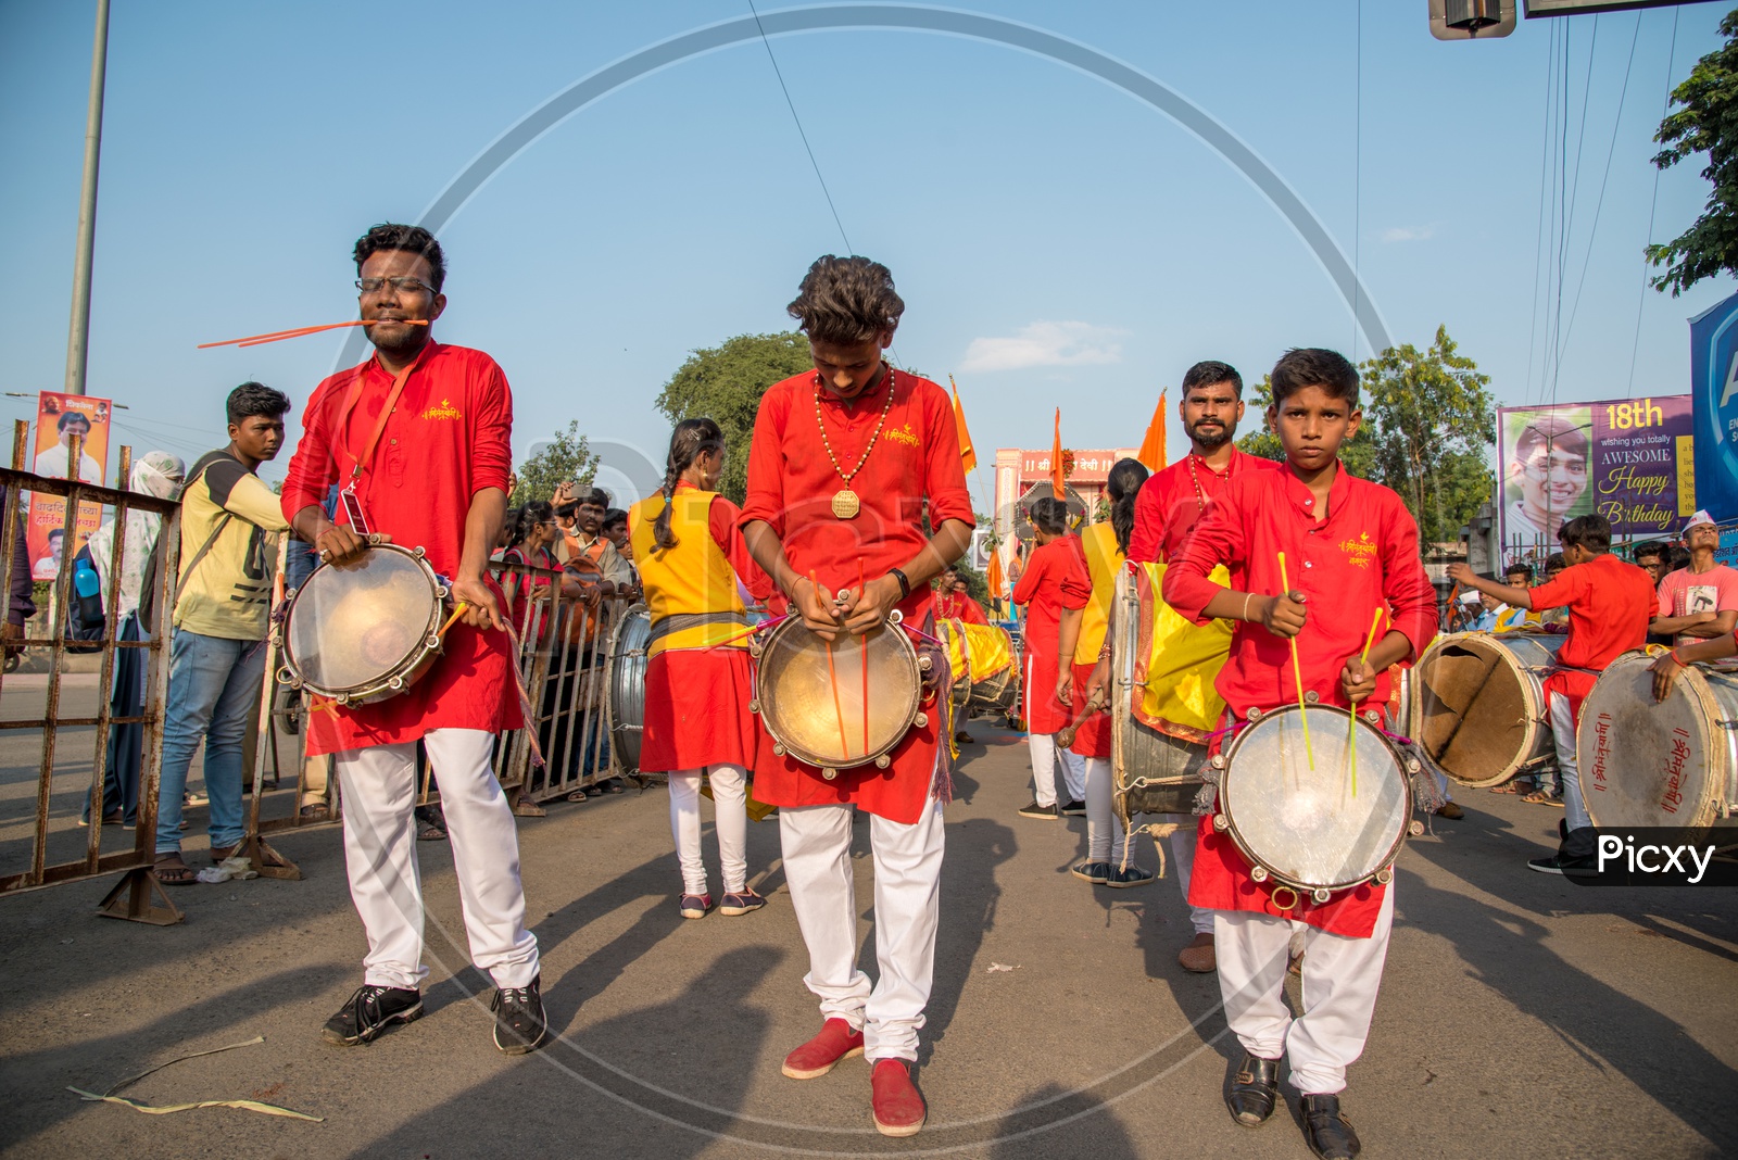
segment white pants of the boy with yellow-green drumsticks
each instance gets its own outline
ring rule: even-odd
[[[1345,1091],[1345,1068],[1364,1052],[1382,964],[1394,926],[1389,882],[1370,938],[1328,934],[1291,919],[1246,910],[1215,912],[1218,993],[1225,1021],[1251,1056],[1291,1058],[1291,1084],[1305,1096]],[[1286,1007],[1286,948],[1304,934],[1304,1014]]]

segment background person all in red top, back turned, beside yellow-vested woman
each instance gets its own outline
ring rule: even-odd
[[[1085,795],[1085,762],[1057,747],[1055,735],[1074,719],[1072,707],[1057,698],[1057,629],[1064,608],[1085,608],[1091,582],[1079,549],[1067,537],[1067,504],[1045,497],[1027,512],[1032,519],[1038,547],[1025,561],[1020,582],[1013,585],[1013,603],[1027,604],[1025,632],[1020,637],[1025,653],[1022,693],[1025,698],[1027,743],[1032,748],[1032,802],[1020,809],[1022,818],[1055,818],[1058,814],[1086,813],[1079,801]],[[1067,801],[1057,804],[1057,761],[1064,762]],[[1079,787],[1079,794],[1074,788]]]

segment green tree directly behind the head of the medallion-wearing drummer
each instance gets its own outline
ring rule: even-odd
[[[740,504],[747,495],[749,438],[766,387],[810,370],[808,339],[791,330],[737,335],[707,351],[690,351],[676,368],[657,408],[674,424],[706,417],[725,432],[725,476],[718,484]]]

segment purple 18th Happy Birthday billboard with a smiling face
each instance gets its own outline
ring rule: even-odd
[[[1496,412],[1505,561],[1557,550],[1557,530],[1599,512],[1613,537],[1675,535],[1696,511],[1688,394]]]

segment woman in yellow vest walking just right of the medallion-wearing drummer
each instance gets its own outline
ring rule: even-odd
[[[1128,537],[1135,530],[1135,495],[1147,481],[1147,469],[1133,458],[1119,458],[1105,478],[1104,490],[1111,498],[1111,521],[1097,523],[1081,531],[1081,550],[1086,554],[1086,575],[1091,578],[1091,597],[1086,608],[1062,610],[1062,627],[1057,646],[1060,665],[1057,698],[1074,707],[1079,728],[1069,748],[1086,759],[1086,861],[1074,867],[1076,879],[1095,886],[1145,886],[1152,872],[1135,863],[1123,865],[1123,820],[1111,809],[1111,714],[1086,715],[1086,682],[1098,663],[1104,634],[1111,623],[1111,601],[1116,596],[1116,573],[1123,570],[1128,554]]]

